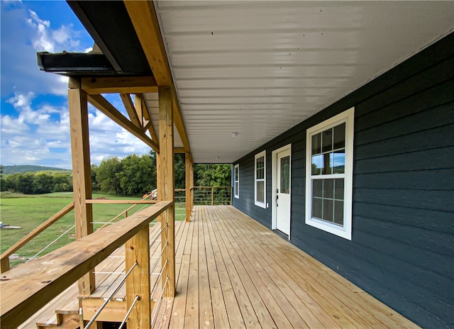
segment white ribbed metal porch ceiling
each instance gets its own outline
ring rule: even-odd
[[[197,163],[238,160],[454,30],[453,1],[155,6]]]

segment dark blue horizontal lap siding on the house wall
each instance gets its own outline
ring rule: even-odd
[[[292,243],[427,328],[454,328],[453,52],[451,34],[236,162],[252,174],[240,178],[252,196],[234,206],[270,227],[271,152],[292,143]],[[348,241],[304,223],[305,137],[352,106]],[[270,208],[258,211],[253,159],[265,149]]]

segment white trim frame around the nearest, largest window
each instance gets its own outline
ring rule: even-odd
[[[353,124],[355,121],[355,108],[350,108],[343,113],[333,116],[318,125],[306,130],[306,224],[319,228],[341,238],[352,240],[352,203],[353,203]],[[326,130],[345,122],[345,178],[344,178],[344,225],[338,225],[311,218],[312,189],[311,189],[311,135]],[[323,178],[335,178],[336,174],[323,175]]]

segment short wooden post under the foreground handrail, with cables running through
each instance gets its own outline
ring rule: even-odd
[[[126,306],[129,309],[139,296],[128,317],[128,328],[150,329],[150,248],[149,225],[139,231],[125,243],[126,272],[134,267],[133,272],[126,279]]]

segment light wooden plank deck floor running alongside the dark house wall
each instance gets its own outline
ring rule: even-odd
[[[195,206],[176,232],[155,328],[419,328],[231,206]]]

